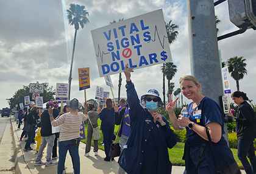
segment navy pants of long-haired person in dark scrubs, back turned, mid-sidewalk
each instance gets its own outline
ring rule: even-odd
[[[107,159],[110,159],[110,150],[113,140],[113,130],[102,130],[103,133],[103,142],[104,142],[104,151]]]

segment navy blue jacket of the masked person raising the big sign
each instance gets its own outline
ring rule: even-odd
[[[168,148],[177,142],[169,123],[154,123],[148,110],[140,105],[132,82],[127,82],[127,102],[130,107],[131,133],[127,148],[122,151],[118,163],[128,174],[169,174],[171,162]]]

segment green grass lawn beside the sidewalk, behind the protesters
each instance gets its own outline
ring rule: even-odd
[[[101,120],[98,120],[98,125],[100,127],[101,125]],[[87,127],[88,124],[85,124],[85,135],[87,136]],[[115,134],[118,131],[118,126],[115,126]],[[99,149],[104,150],[104,146],[102,146],[102,142],[103,142],[103,136],[102,136],[102,132],[99,131],[100,133],[100,139],[99,139]],[[118,140],[119,141],[119,140]],[[82,140],[82,142],[86,142],[86,139]],[[92,143],[93,145],[93,143]],[[168,149],[169,151],[169,157],[170,157],[170,161],[172,162],[172,165],[185,165],[185,162],[182,160],[182,156],[183,156],[183,149],[184,149],[184,143],[182,142],[178,142],[173,148]],[[241,164],[240,160],[238,159],[237,156],[237,149],[235,148],[231,148],[233,155],[235,156],[235,160],[236,162],[238,162],[239,167],[242,169],[243,165]]]

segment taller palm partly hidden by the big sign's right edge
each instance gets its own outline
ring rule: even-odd
[[[168,36],[168,42],[169,44],[172,44],[174,43],[179,34],[179,32],[177,31],[177,29],[179,29],[179,26],[177,26],[176,24],[172,24],[172,21],[170,20],[169,23],[165,24],[165,27]],[[163,103],[165,105],[165,63],[163,63],[161,69],[163,72]]]

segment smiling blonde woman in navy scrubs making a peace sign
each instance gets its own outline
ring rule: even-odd
[[[184,155],[186,174],[240,173],[232,151],[224,139],[224,116],[214,100],[201,93],[201,85],[192,75],[180,78],[180,88],[187,99],[193,100],[178,118],[174,113],[177,99],[171,95],[166,111],[174,129],[187,129]]]

